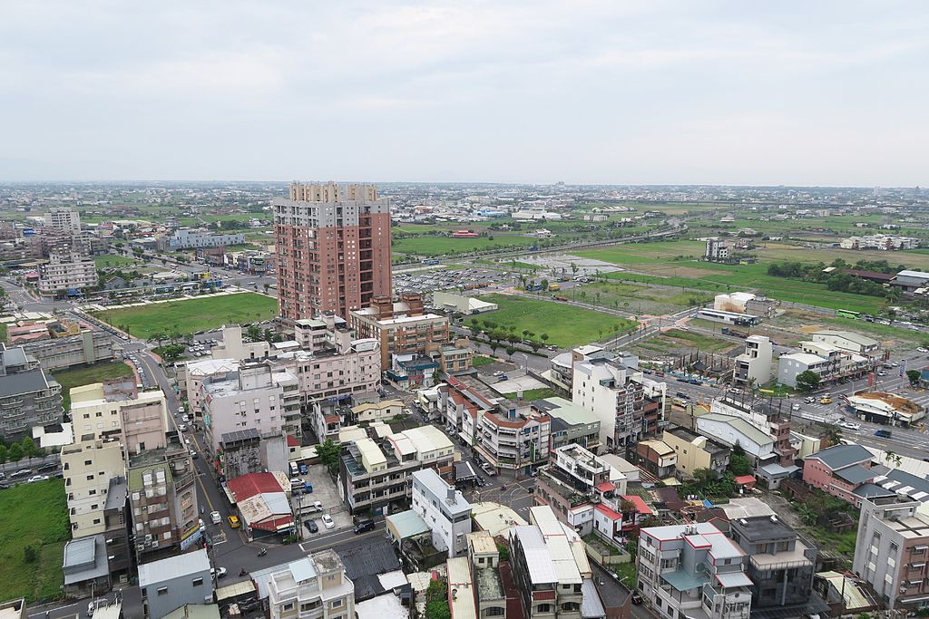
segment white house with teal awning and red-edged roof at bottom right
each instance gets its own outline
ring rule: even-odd
[[[636,587],[669,619],[748,619],[752,612],[745,555],[710,522],[641,529]]]

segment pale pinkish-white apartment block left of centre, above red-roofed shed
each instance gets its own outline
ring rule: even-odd
[[[249,428],[261,436],[295,434],[300,426],[296,377],[268,362],[243,363],[238,371],[203,380],[206,446],[216,455],[223,435]]]

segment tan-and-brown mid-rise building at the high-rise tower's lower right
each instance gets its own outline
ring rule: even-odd
[[[450,342],[447,316],[425,313],[422,295],[405,292],[399,302],[375,296],[370,307],[348,312],[352,329],[362,338],[380,342],[381,369],[390,369],[391,355],[438,358]]]

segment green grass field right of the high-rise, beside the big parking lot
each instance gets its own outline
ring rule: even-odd
[[[502,327],[516,326],[516,333],[529,329],[538,339],[547,333],[548,344],[569,348],[595,342],[614,333],[625,333],[635,328],[635,321],[609,316],[593,310],[533,299],[528,296],[487,294],[482,301],[497,303],[499,309],[482,314],[482,320],[491,320]]]

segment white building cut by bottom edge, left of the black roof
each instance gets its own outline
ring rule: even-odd
[[[271,619],[354,619],[355,585],[334,550],[321,550],[271,574]]]

